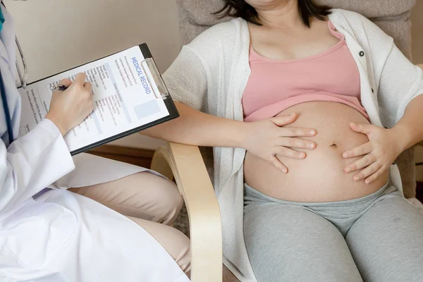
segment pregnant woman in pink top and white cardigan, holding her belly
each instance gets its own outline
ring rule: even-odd
[[[180,118],[149,134],[214,147],[226,266],[241,281],[423,281],[423,215],[393,164],[423,140],[422,70],[351,11],[221,12],[235,19],[164,76]]]

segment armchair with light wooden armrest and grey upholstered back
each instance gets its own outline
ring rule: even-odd
[[[180,16],[183,44],[188,44],[208,27],[228,20],[212,15],[222,7],[221,0],[176,0]],[[415,0],[318,0],[333,8],[362,13],[391,35],[405,56],[411,56],[410,12]],[[413,149],[397,160],[406,197],[415,197],[415,165]],[[204,164],[204,161],[208,166]],[[222,269],[222,231],[219,205],[210,175],[212,159],[195,146],[168,143],[157,149],[152,168],[168,178],[175,178],[188,209],[191,238],[192,281],[237,282],[226,267]],[[207,168],[209,168],[207,170]]]

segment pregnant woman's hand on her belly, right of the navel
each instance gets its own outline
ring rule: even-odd
[[[394,129],[379,128],[372,124],[350,123],[350,128],[363,133],[369,142],[343,153],[343,158],[360,157],[353,164],[345,167],[345,173],[361,170],[354,176],[355,181],[365,178],[365,183],[372,183],[386,171],[401,153],[398,135]]]

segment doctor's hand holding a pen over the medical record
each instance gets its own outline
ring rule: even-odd
[[[74,82],[64,79],[59,84],[68,89],[53,92],[46,118],[59,128],[62,135],[66,135],[91,114],[94,107],[92,86],[90,82],[85,82],[85,73],[79,73]]]

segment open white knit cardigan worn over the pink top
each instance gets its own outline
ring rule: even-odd
[[[329,16],[345,36],[360,71],[362,105],[374,125],[391,128],[411,99],[423,93],[422,70],[393,39],[358,13],[334,9]],[[164,74],[174,99],[207,114],[243,121],[241,97],[250,75],[250,34],[236,18],[210,27],[184,46]],[[214,148],[214,188],[223,225],[223,261],[240,281],[256,281],[243,237],[245,149]],[[396,165],[391,180],[402,190]]]

